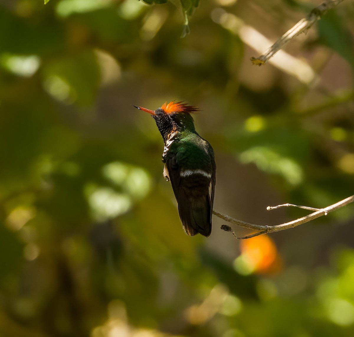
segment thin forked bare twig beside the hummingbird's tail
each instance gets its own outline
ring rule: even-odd
[[[333,204],[331,206],[325,207],[325,208],[321,208],[321,209],[313,209],[312,207],[307,207],[307,206],[297,206],[297,205],[292,205],[292,204],[283,204],[283,205],[278,205],[278,206],[274,206],[274,207],[267,207],[267,209],[276,209],[278,207],[282,207],[282,206],[296,206],[296,207],[300,207],[300,208],[305,208],[305,209],[309,209],[309,210],[317,210],[307,216],[304,216],[302,218],[290,221],[290,222],[286,222],[286,223],[282,223],[280,225],[274,225],[274,226],[267,226],[267,225],[254,225],[251,223],[247,223],[247,222],[243,222],[240,220],[236,220],[233,219],[232,217],[229,217],[227,215],[221,214],[215,210],[213,210],[213,214],[216,215],[217,217],[233,224],[232,226],[228,226],[228,225],[222,225],[221,229],[225,230],[226,232],[232,232],[233,235],[238,238],[238,239],[249,239],[252,238],[253,236],[258,236],[261,234],[265,234],[265,233],[271,233],[271,232],[278,232],[279,230],[284,230],[284,229],[288,229],[288,228],[293,228],[296,227],[298,225],[301,225],[305,222],[309,222],[313,219],[316,219],[322,215],[327,215],[329,212],[335,211],[338,208],[341,208],[343,206],[346,206],[348,204],[350,204],[351,202],[354,202],[354,195],[349,196],[346,199],[343,199],[341,201],[336,202],[336,204]],[[237,236],[235,234],[235,230],[236,227],[234,225],[240,226],[240,227],[244,227],[244,228],[248,228],[248,229],[252,229],[252,230],[257,230],[259,232],[257,233],[253,233],[251,235],[247,235],[247,236]]]

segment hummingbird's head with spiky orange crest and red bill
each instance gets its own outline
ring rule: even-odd
[[[188,103],[174,101],[162,104],[161,108],[156,110],[149,110],[142,107],[133,107],[145,111],[152,115],[157,127],[161,133],[162,138],[166,142],[173,133],[178,133],[184,130],[195,132],[192,113],[200,111],[198,107],[189,105]]]

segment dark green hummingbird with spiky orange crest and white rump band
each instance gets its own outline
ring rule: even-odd
[[[189,236],[209,236],[214,203],[216,165],[211,145],[195,131],[194,105],[174,101],[149,110],[164,139],[163,175],[171,181],[183,228]]]

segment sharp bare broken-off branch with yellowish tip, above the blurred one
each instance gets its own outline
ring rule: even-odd
[[[251,57],[252,64],[263,65],[268,61],[277,51],[284,48],[285,45],[295,36],[306,32],[322,15],[334,6],[337,6],[343,0],[327,0],[321,5],[315,7],[306,18],[300,20],[294,27],[289,29],[279,40],[277,40],[273,46],[268,48],[263,55],[259,57]]]

